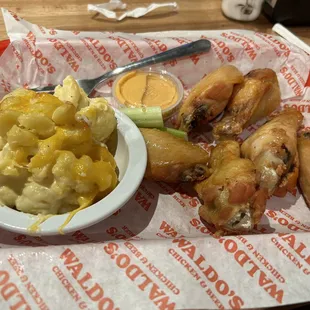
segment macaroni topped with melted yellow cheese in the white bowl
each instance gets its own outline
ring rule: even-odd
[[[71,77],[55,96],[20,89],[0,102],[0,203],[37,215],[29,231],[68,212],[59,228],[117,184],[103,142],[116,128],[104,98],[87,98]],[[96,143],[96,142],[97,143]]]

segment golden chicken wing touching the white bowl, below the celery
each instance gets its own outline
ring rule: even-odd
[[[179,183],[206,178],[209,154],[202,148],[158,129],[140,130],[148,152],[146,179]]]

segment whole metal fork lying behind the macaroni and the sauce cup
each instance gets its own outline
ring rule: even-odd
[[[95,79],[83,79],[83,80],[77,80],[77,83],[79,86],[84,89],[85,93],[89,95],[96,86],[103,83],[104,81],[122,74],[124,72],[128,72],[131,70],[137,70],[141,69],[150,65],[158,64],[161,62],[166,62],[169,60],[174,60],[177,58],[190,56],[193,54],[201,53],[201,52],[207,52],[211,48],[211,43],[208,40],[201,39],[197,40],[188,44],[181,45],[179,47],[170,49],[168,51],[165,51],[160,54],[156,54],[154,56],[150,56],[147,58],[143,58],[139,61],[129,63],[123,67],[118,67],[112,71],[109,71]],[[38,88],[32,88],[32,90],[36,92],[53,92],[56,85],[53,86],[45,86],[45,87],[38,87]]]

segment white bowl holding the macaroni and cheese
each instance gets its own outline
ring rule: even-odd
[[[120,182],[108,196],[78,212],[64,228],[64,233],[89,227],[109,217],[133,196],[143,179],[147,161],[143,136],[125,114],[115,110],[115,115],[118,123],[115,160]],[[58,235],[58,229],[67,217],[68,214],[52,216],[40,225],[40,230],[31,233],[27,228],[37,221],[36,216],[0,206],[0,227],[25,235]]]

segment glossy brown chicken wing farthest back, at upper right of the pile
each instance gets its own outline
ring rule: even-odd
[[[242,84],[234,87],[223,119],[213,129],[216,139],[233,138],[243,129],[268,116],[280,106],[276,73],[271,69],[250,71]]]

